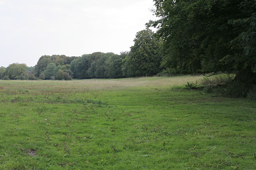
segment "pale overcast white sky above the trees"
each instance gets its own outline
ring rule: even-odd
[[[0,66],[130,50],[153,0],[0,0]]]

